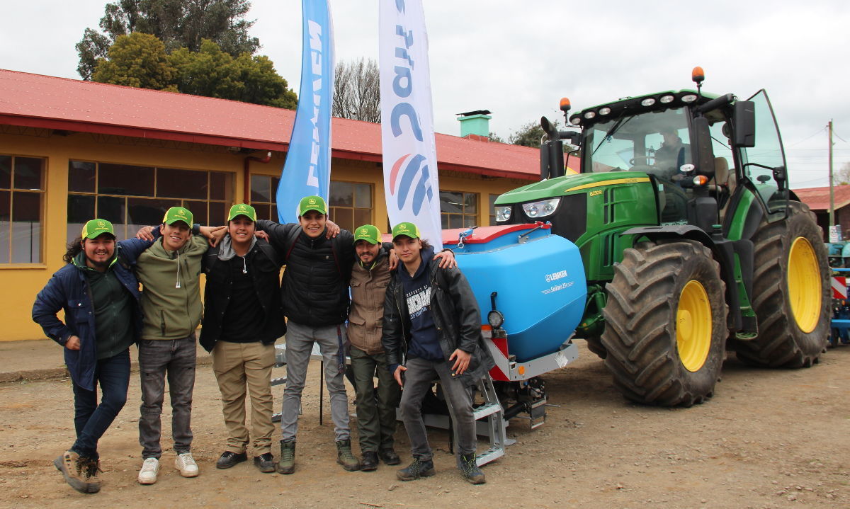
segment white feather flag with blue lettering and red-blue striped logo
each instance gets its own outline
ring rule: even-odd
[[[380,0],[383,188],[389,223],[415,223],[439,251],[437,150],[421,0]]]

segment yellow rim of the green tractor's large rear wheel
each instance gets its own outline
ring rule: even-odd
[[[818,257],[807,238],[797,237],[788,253],[788,300],[801,331],[818,326],[822,292]]]

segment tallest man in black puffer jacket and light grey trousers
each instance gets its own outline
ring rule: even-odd
[[[295,438],[301,393],[313,343],[325,360],[325,382],[331,396],[331,418],[337,442],[337,463],[359,470],[351,452],[348,398],[345,394],[348,281],[354,258],[354,236],[341,230],[326,238],[327,206],[320,196],[306,196],[298,205],[298,224],[258,221],[269,242],[283,254],[286,270],[281,283],[286,331],[286,389],[280,416],[280,458],[277,471],[295,471]]]

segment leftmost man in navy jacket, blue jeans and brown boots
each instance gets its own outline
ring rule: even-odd
[[[142,328],[139,283],[129,260],[149,245],[130,240],[116,248],[112,223],[88,221],[68,246],[67,264],[38,292],[32,307],[32,320],[65,347],[77,440],[54,465],[82,493],[100,489],[98,440],[127,401],[129,347]],[[56,317],[59,309],[65,310],[65,322]]]

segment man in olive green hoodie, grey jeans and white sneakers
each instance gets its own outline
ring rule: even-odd
[[[144,316],[139,341],[142,406],[139,444],[144,462],[140,484],[156,483],[159,472],[162,402],[165,378],[171,395],[174,467],[193,478],[198,466],[192,458],[192,389],[195,386],[195,329],[201,323],[201,259],[207,240],[192,235],[192,213],[173,206],[162,219],[161,238],[139,255],[136,277],[143,285]]]

